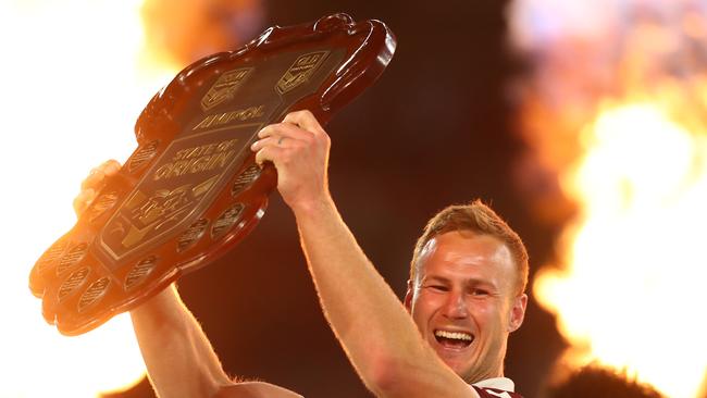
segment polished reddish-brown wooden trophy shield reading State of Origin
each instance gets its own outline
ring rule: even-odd
[[[346,14],[271,27],[247,46],[189,65],[137,120],[138,147],[29,275],[64,335],[90,331],[240,241],[276,186],[250,145],[308,109],[322,123],[372,85],[395,38]]]

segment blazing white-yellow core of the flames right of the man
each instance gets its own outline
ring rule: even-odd
[[[627,369],[674,398],[696,397],[707,372],[704,133],[648,103],[601,111],[563,181],[583,209],[563,236],[568,269],[534,285],[583,348],[574,365]]]

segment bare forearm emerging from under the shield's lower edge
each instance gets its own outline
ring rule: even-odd
[[[131,311],[131,318],[160,397],[208,397],[228,383],[201,326],[173,285]]]

